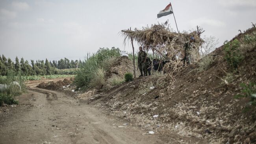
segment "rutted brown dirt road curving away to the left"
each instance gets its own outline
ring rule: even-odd
[[[133,126],[67,95],[28,85],[13,115],[0,117],[0,144],[160,144],[158,134]],[[127,124],[127,125],[126,125]]]

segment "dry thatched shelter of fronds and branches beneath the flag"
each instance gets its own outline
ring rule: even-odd
[[[124,36],[124,44],[131,40],[133,46],[133,40],[135,40],[144,50],[152,50],[153,53],[160,54],[163,59],[171,60],[170,65],[173,70],[176,70],[182,63],[180,59],[183,58],[183,46],[191,36],[195,38],[197,47],[193,52],[193,61],[198,61],[199,47],[204,42],[200,38],[199,31],[176,33],[169,29],[168,22],[143,27],[142,30],[136,28],[134,31],[122,30],[121,34]],[[170,68],[170,65],[167,65],[166,68]]]

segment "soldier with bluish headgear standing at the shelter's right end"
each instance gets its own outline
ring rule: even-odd
[[[194,44],[195,38],[191,36],[190,41],[187,41],[184,44],[184,65],[185,62],[187,62],[187,65],[191,64],[191,53],[192,50],[195,49],[195,44]]]

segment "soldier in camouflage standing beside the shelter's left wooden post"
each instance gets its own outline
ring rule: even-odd
[[[142,50],[142,47],[139,47],[139,53],[138,53],[138,67],[139,71],[141,72],[141,75],[139,77],[148,76],[148,70],[147,70],[147,54],[145,51]]]

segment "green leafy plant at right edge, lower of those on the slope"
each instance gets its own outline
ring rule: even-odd
[[[245,83],[240,83],[240,87],[242,88],[241,94],[237,94],[234,98],[239,99],[240,97],[250,97],[249,104],[256,106],[256,83],[249,83],[246,85]]]

